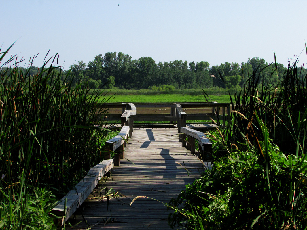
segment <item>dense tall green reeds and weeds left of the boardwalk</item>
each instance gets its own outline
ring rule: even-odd
[[[46,59],[47,53],[29,75],[34,58],[20,69],[17,58],[4,61],[9,49],[0,49],[1,67],[10,65],[0,71],[0,228],[54,229],[48,214],[55,195],[62,197],[103,159],[107,130],[95,126],[95,104],[106,97],[63,83],[70,72],[56,74],[58,54]]]

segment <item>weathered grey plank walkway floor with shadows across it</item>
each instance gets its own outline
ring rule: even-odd
[[[125,148],[126,159],[90,197],[101,197],[104,187],[113,188],[118,196],[109,201],[87,199],[69,219],[72,225],[82,221],[73,229],[171,229],[167,220],[171,211],[153,199],[168,203],[203,171],[200,160],[181,146],[177,128],[134,128]],[[130,206],[137,196],[153,199],[138,198]]]

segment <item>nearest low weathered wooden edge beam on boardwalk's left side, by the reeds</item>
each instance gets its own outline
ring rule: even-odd
[[[64,196],[52,209],[52,213],[60,216],[59,226],[63,225],[69,217],[77,210],[83,201],[94,190],[98,181],[113,167],[113,159],[103,160],[90,169],[88,174]],[[66,207],[65,207],[66,203]]]

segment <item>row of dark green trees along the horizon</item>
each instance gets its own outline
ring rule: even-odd
[[[307,70],[299,68],[301,78]],[[38,67],[31,67],[29,74],[37,74]],[[249,58],[245,63],[225,62],[210,67],[207,61],[190,62],[174,60],[156,64],[151,57],[132,59],[122,52],[99,54],[88,64],[83,61],[70,66],[69,79],[75,84],[88,84],[95,88],[119,89],[157,89],[168,86],[169,89],[195,89],[218,86],[237,88],[243,86],[249,75],[255,72],[263,84],[282,80],[287,67],[277,63],[268,64],[264,59]],[[72,77],[74,76],[74,77]],[[252,82],[251,82],[252,83]]]

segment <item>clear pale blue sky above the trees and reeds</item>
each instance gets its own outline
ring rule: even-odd
[[[49,49],[64,69],[106,52],[212,66],[252,57],[274,62],[272,50],[287,65],[303,51],[299,66],[307,62],[306,0],[0,1],[2,51],[17,40],[10,55],[28,61],[39,53],[34,66]]]

